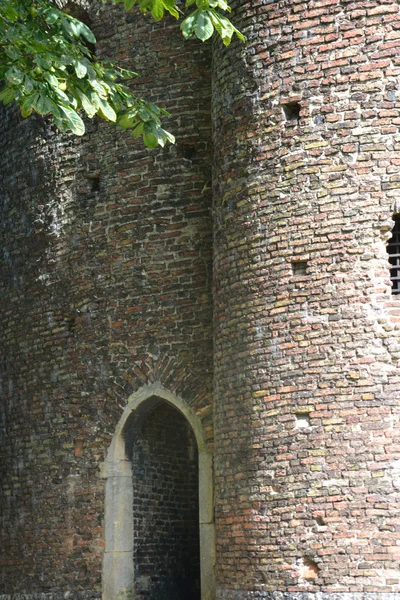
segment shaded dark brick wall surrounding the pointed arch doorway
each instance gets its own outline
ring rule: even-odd
[[[160,381],[212,440],[210,48],[93,7],[98,53],[142,73],[177,144],[2,120],[4,594],[100,595],[100,467],[133,391]]]

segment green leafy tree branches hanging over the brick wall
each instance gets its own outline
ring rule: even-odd
[[[185,16],[175,0],[112,3],[150,12],[155,20],[166,13]],[[225,0],[187,0],[185,9],[191,9],[181,22],[185,38],[205,41],[216,32],[225,45],[233,35],[244,40],[225,14],[231,10]],[[168,113],[124,83],[137,74],[98,60],[91,49],[95,43],[87,25],[48,0],[0,0],[0,101],[16,102],[23,117],[52,115],[63,132],[83,135],[83,112],[129,129],[149,148],[174,142],[161,124]]]

